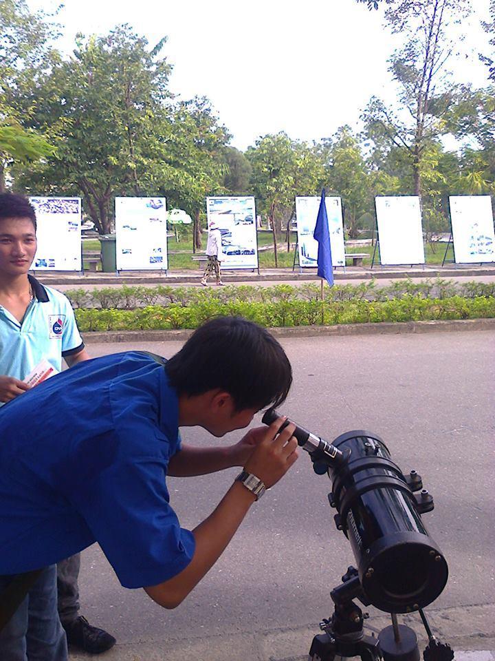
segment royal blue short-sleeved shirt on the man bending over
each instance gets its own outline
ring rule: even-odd
[[[194,536],[170,507],[178,401],[137,351],[83,361],[0,410],[0,574],[98,542],[124,587],[184,569]]]

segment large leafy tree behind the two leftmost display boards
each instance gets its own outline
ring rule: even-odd
[[[168,96],[164,39],[146,39],[122,25],[108,36],[77,36],[74,56],[42,82],[31,125],[56,145],[56,156],[23,178],[27,189],[82,194],[98,231],[111,231],[113,196],[146,194],[156,165],[156,115]],[[19,98],[19,105],[25,98]]]

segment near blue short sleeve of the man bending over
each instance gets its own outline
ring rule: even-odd
[[[166,461],[111,461],[74,493],[76,507],[124,587],[157,585],[185,569],[195,552],[192,532],[180,527],[168,503]]]

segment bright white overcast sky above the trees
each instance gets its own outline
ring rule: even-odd
[[[320,140],[346,123],[359,128],[370,96],[394,98],[386,63],[394,42],[382,11],[355,0],[63,1],[64,50],[76,32],[104,34],[118,23],[130,23],[151,45],[168,36],[171,90],[184,99],[208,96],[239,149],[278,131]],[[451,67],[456,80],[482,86],[486,67],[477,54],[488,50],[488,37],[479,21],[488,19],[489,0],[472,2],[475,14],[462,26],[470,54]]]

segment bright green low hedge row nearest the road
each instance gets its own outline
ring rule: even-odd
[[[79,308],[76,319],[81,331],[92,330],[170,330],[197,328],[216,315],[241,315],[271,328],[409,322],[431,319],[480,319],[495,317],[495,298],[425,298],[405,294],[384,301],[320,301],[286,298],[276,301],[231,300],[206,297],[188,305],[173,302],[167,306],[149,305],[135,310]]]

